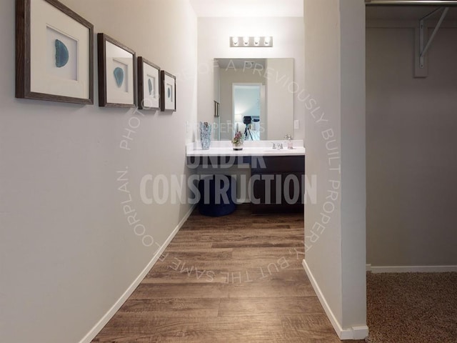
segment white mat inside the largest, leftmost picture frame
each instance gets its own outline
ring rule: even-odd
[[[44,0],[31,1],[30,11],[30,90],[36,93],[89,99],[89,28]],[[50,57],[53,57],[51,61],[54,61],[54,68],[58,68],[55,66],[55,55],[48,51],[51,39],[48,28],[66,36],[66,39],[77,42],[77,61],[70,59],[64,66],[76,69],[76,80],[75,77],[67,78],[65,73],[59,74],[59,71],[49,72]],[[67,46],[69,54],[72,56],[73,52],[75,56],[74,51],[71,51],[71,45]]]

